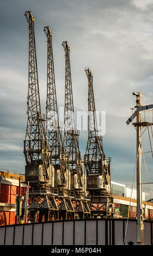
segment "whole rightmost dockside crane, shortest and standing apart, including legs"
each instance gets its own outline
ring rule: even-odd
[[[102,217],[103,197],[111,193],[111,158],[106,158],[103,151],[102,136],[99,136],[96,121],[96,109],[93,91],[93,74],[89,67],[85,68],[88,78],[88,143],[84,155],[84,166],[87,173],[87,190],[91,194],[91,213]],[[96,208],[92,202],[102,203],[101,208]],[[108,217],[112,199],[106,197],[107,205],[105,216]],[[111,204],[109,205],[111,201]],[[92,211],[94,209],[94,211]],[[112,210],[111,210],[112,211]],[[111,214],[112,216],[112,214]]]

